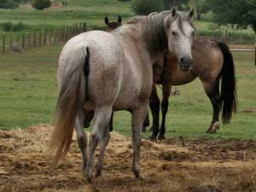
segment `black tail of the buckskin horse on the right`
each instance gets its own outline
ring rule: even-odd
[[[218,42],[224,56],[224,64],[221,70],[221,104],[222,121],[224,124],[230,123],[232,112],[236,113],[236,76],[233,56],[227,44]]]

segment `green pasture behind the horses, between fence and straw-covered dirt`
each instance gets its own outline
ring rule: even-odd
[[[0,129],[26,128],[51,123],[57,96],[56,67],[61,45],[0,57]],[[253,53],[234,54],[238,113],[230,125],[211,137],[256,139],[256,67]],[[178,86],[180,96],[171,96],[167,114],[167,137],[209,137],[205,131],[212,119],[212,106],[197,79]],[[160,91],[159,91],[160,92]],[[114,130],[131,136],[131,114],[117,112]],[[149,132],[144,133],[148,137]]]

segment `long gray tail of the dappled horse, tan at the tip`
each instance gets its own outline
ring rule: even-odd
[[[86,100],[89,57],[89,49],[84,46],[73,49],[67,56],[55,106],[55,130],[49,142],[49,152],[55,153],[55,163],[67,154],[72,143],[76,114]]]

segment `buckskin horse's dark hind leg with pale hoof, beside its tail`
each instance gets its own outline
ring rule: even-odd
[[[215,81],[214,83],[203,82],[205,91],[210,101],[212,102],[212,123],[207,130],[207,133],[216,133],[219,128],[218,123],[218,113],[219,113],[219,104],[221,98],[219,96],[219,81]]]

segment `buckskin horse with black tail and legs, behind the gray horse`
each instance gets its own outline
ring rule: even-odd
[[[212,122],[207,130],[215,133],[219,127],[218,113],[222,109],[222,121],[230,123],[232,111],[236,112],[236,77],[232,54],[227,44],[212,38],[194,38],[192,46],[193,63],[190,71],[183,72],[177,65],[176,55],[167,52],[154,65],[154,84],[150,96],[150,108],[153,115],[152,139],[160,131],[159,138],[165,138],[166,113],[172,85],[189,84],[197,77],[212,103]],[[219,83],[221,79],[221,90]],[[160,99],[157,96],[156,84],[162,84],[161,112],[162,121],[159,129]],[[148,120],[148,115],[147,119]]]

